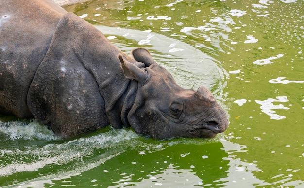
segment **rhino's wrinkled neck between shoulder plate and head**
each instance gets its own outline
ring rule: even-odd
[[[57,29],[62,32],[72,47],[78,60],[83,64],[96,80],[99,92],[105,101],[105,111],[114,128],[129,125],[127,113],[133,105],[137,85],[124,76],[120,67],[118,55],[134,63],[135,60],[112,45],[101,31],[78,16],[67,13],[58,24]],[[71,34],[72,33],[72,34]]]

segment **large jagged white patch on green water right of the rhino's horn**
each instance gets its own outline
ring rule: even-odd
[[[285,109],[288,110],[288,107],[285,107],[283,104],[274,105],[274,102],[288,102],[287,96],[277,96],[277,99],[269,98],[266,100],[255,100],[256,103],[261,105],[261,111],[270,116],[270,119],[281,120],[286,118],[286,116],[280,116],[273,111],[273,109]]]

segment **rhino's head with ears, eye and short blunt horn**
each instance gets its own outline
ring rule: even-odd
[[[171,74],[158,65],[148,50],[132,52],[145,67],[138,68],[119,56],[127,78],[138,82],[135,103],[128,121],[136,133],[153,138],[212,138],[228,127],[225,111],[204,86],[197,91],[178,86]]]

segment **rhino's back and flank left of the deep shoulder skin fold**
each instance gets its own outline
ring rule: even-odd
[[[0,4],[0,113],[31,117],[28,89],[66,11],[51,1],[0,0]]]

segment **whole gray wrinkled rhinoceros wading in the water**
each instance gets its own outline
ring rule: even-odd
[[[153,138],[214,137],[228,127],[204,86],[176,84],[149,51],[134,58],[48,0],[0,0],[0,113],[69,138],[111,124]]]

